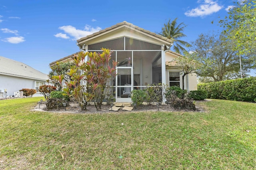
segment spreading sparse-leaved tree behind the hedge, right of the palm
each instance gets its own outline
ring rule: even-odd
[[[201,63],[197,74],[205,80],[222,81],[238,78],[240,59],[234,51],[234,42],[223,35],[200,34],[192,42],[191,52]],[[241,55],[243,74],[249,72],[252,60],[249,55]]]

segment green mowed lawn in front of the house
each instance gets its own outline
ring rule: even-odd
[[[196,103],[206,112],[30,111],[40,99],[0,101],[0,169],[256,167],[254,103]]]

